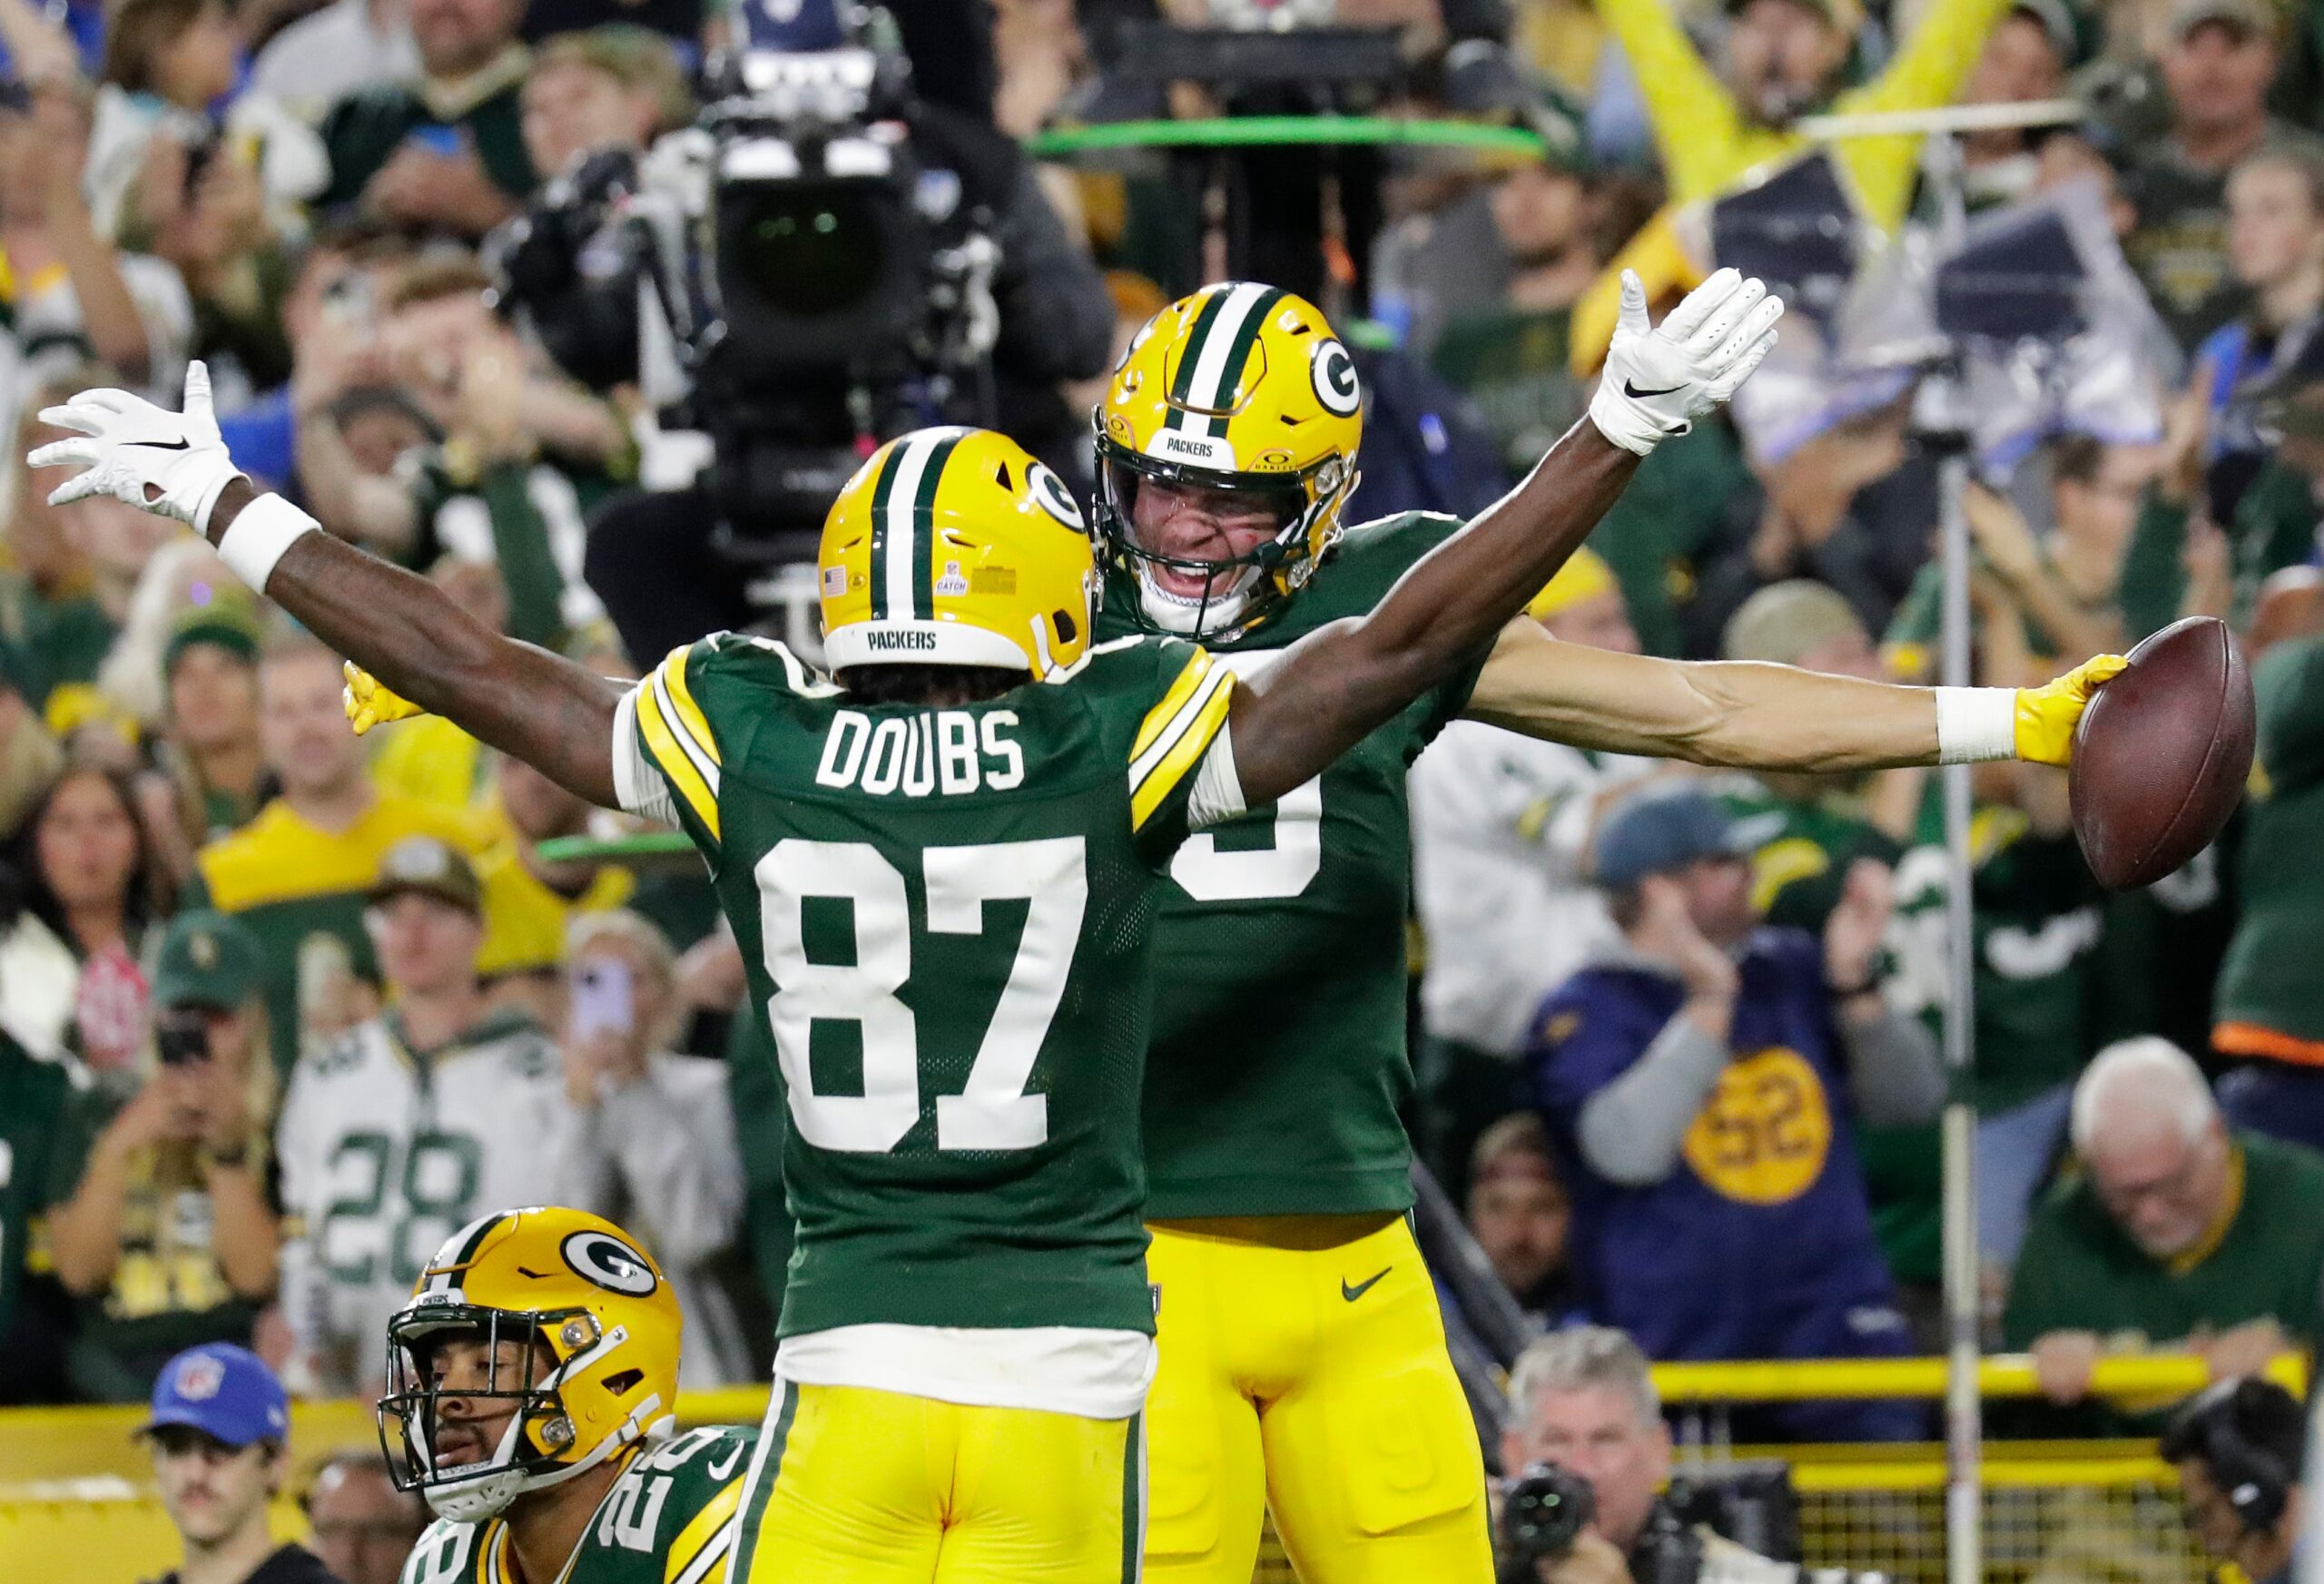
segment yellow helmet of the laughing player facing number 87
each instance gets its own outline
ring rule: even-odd
[[[1095,423],[1097,530],[1113,564],[1136,574],[1148,625],[1225,639],[1306,583],[1339,537],[1364,402],[1313,302],[1229,281],[1146,321]],[[1215,555],[1169,546],[1162,523],[1139,513],[1139,490],[1155,481],[1241,495],[1271,532],[1241,555],[1225,537],[1213,537]]]

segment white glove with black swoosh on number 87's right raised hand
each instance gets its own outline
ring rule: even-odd
[[[1606,372],[1590,397],[1590,423],[1641,458],[1694,427],[1736,393],[1776,346],[1783,297],[1720,269],[1687,293],[1659,325],[1645,316],[1645,288],[1622,272],[1622,314],[1606,351]]]

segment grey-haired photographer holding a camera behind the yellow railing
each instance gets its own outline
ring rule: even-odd
[[[1799,1568],[1680,1521],[1657,1493],[1671,1426],[1620,1331],[1538,1338],[1508,1373],[1501,1584],[1792,1584]]]

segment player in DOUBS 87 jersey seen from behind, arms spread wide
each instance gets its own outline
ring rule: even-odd
[[[1662,327],[1641,311],[1620,367],[1652,395],[1624,397],[1624,432],[1724,402],[1780,314],[1734,272]],[[783,1068],[799,1217],[732,1542],[751,1584],[1136,1577],[1162,871],[1455,676],[1638,460],[1578,425],[1378,609],[1236,678],[1171,639],[1095,643],[1095,543],[1057,478],[999,434],[923,430],[825,523],[837,683],[720,634],[616,685],[253,495],[200,365],[184,416],[95,390],[46,420],[81,439],[33,462],[86,469],[58,504],[195,525],[395,694],[674,818],[709,859]]]

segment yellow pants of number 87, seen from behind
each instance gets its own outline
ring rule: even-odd
[[[1134,1584],[1139,1417],[774,1382],[737,1584]]]

